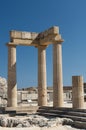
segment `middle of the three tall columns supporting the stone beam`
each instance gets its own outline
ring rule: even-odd
[[[38,105],[47,105],[46,46],[38,47]]]

